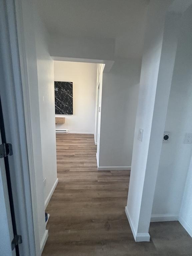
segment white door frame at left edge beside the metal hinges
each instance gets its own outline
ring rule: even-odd
[[[31,143],[30,108],[26,104],[28,75],[24,42],[18,44],[22,35],[21,1],[0,1],[1,16],[1,83],[0,94],[7,142],[13,146],[9,158],[13,200],[18,234],[22,235],[19,245],[20,256],[39,256],[37,243],[37,202],[33,151]],[[20,38],[21,41],[21,38]],[[24,100],[24,97],[25,100]]]

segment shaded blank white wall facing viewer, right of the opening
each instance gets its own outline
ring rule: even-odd
[[[131,166],[141,60],[115,59],[103,73],[99,168]]]

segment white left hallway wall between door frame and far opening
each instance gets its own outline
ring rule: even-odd
[[[48,232],[45,226],[45,199],[56,181],[56,140],[53,61],[47,50],[47,35],[32,1],[22,1],[24,47],[29,83],[36,202],[33,210],[36,255],[41,255]],[[46,186],[43,179],[46,177]],[[37,203],[37,204],[36,204]]]

